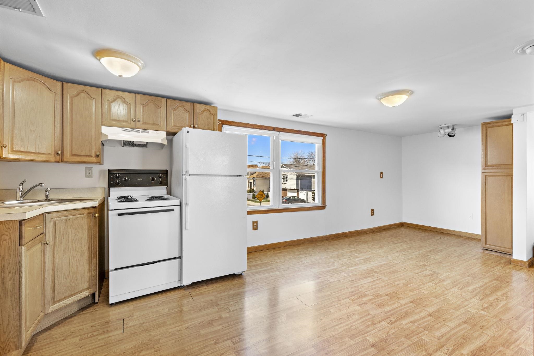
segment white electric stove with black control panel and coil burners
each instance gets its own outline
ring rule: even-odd
[[[167,170],[108,170],[109,303],[178,287],[180,200]]]

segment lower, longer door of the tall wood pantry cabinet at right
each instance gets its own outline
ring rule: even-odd
[[[512,254],[513,172],[482,173],[482,247]]]

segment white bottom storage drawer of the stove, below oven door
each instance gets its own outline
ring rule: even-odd
[[[180,259],[109,271],[109,297],[180,280]]]

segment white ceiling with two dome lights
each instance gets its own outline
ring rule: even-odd
[[[0,57],[60,80],[407,136],[534,104],[532,0],[38,0],[0,8]],[[145,62],[115,77],[92,53]],[[389,108],[375,97],[413,90]],[[313,115],[293,118],[294,113]]]

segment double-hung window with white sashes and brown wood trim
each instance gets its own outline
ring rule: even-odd
[[[247,135],[249,214],[325,208],[326,135],[232,121],[219,130]]]

